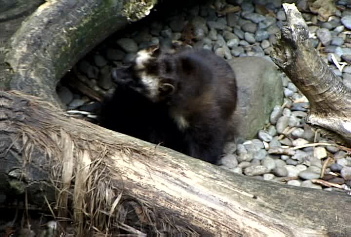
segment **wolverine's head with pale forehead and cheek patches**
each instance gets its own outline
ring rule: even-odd
[[[174,57],[172,42],[140,50],[132,64],[112,71],[112,78],[141,93],[153,102],[167,99],[177,90],[179,65]]]

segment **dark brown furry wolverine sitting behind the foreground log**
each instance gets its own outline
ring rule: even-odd
[[[112,77],[118,87],[103,104],[102,126],[217,163],[236,106],[234,72],[224,59],[152,47]]]

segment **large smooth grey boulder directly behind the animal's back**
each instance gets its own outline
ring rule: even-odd
[[[283,102],[283,84],[272,61],[259,57],[228,60],[236,74],[238,102],[235,113],[239,139],[252,139],[269,121],[275,105]]]

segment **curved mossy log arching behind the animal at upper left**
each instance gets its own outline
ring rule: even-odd
[[[56,84],[95,45],[149,14],[156,0],[50,0],[21,25],[8,45],[5,89],[60,107]]]

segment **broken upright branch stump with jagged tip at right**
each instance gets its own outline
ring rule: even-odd
[[[271,55],[311,103],[307,123],[339,135],[351,146],[351,89],[319,57],[309,40],[308,26],[292,3]]]

